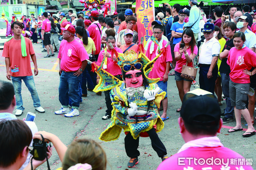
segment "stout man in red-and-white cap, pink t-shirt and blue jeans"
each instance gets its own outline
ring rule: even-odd
[[[82,72],[87,65],[86,59],[88,54],[76,39],[76,29],[70,24],[65,23],[63,30],[63,40],[61,41],[60,51],[58,54],[60,65],[60,85],[59,85],[59,101],[61,108],[55,111],[55,114],[65,114],[65,117],[79,116],[80,88]],[[68,109],[69,99],[71,100],[72,109]]]

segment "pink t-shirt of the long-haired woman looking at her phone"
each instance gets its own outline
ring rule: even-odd
[[[177,51],[177,52],[180,51],[180,42],[175,45],[174,51]],[[189,47],[187,49],[187,52],[188,52],[188,54],[190,56],[191,55],[191,47]],[[195,45],[193,54],[197,55],[197,53],[198,53],[198,47]],[[181,73],[182,65],[186,65],[186,57],[185,57],[184,53],[182,54],[181,59],[176,62],[176,66],[175,66],[174,70],[179,72],[179,73]],[[189,62],[188,66],[189,67],[193,67],[192,62]]]

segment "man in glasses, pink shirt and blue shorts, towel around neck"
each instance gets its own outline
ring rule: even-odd
[[[157,24],[153,28],[153,35],[157,39],[159,46],[154,43],[153,41],[149,42],[148,49],[146,51],[146,56],[148,59],[152,60],[159,54],[160,49],[164,48],[167,44],[166,40],[162,39],[163,35],[163,26]],[[160,78],[157,82],[157,85],[166,92],[165,98],[162,100],[163,103],[163,114],[161,116],[162,120],[165,121],[169,119],[167,117],[167,106],[168,106],[168,99],[167,99],[167,81],[168,81],[168,73],[170,68],[170,62],[172,62],[172,55],[171,55],[171,48],[170,45],[167,46],[166,52],[163,53],[157,61],[154,63],[153,69],[149,72],[149,78]]]

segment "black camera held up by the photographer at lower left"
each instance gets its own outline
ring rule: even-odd
[[[38,161],[42,161],[47,156],[47,142],[43,142],[39,139],[33,139],[33,150],[30,152],[33,158]]]

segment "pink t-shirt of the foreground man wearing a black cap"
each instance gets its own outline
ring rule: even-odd
[[[167,158],[157,170],[253,170],[247,160],[227,147],[189,147]]]

